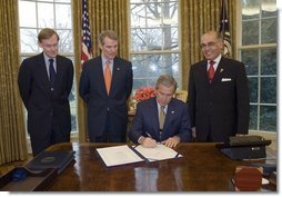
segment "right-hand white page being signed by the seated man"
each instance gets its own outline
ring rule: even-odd
[[[139,145],[134,149],[139,151],[149,161],[183,157],[182,155],[179,155],[175,150],[165,147],[164,145],[161,144],[158,144],[157,147],[154,148],[144,148],[141,145]]]

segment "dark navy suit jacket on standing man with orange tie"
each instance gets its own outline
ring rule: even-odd
[[[110,135],[125,137],[127,100],[131,95],[132,83],[132,63],[115,57],[113,59],[111,89],[108,96],[101,56],[83,63],[79,92],[87,102],[90,141],[103,135],[107,121],[110,125]]]

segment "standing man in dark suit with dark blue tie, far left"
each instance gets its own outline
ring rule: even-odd
[[[69,95],[73,65],[58,55],[59,36],[44,28],[38,35],[40,55],[22,61],[18,85],[28,111],[28,131],[33,156],[57,142],[69,142],[71,115]]]

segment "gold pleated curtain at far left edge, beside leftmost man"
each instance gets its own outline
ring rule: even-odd
[[[0,165],[28,158],[23,110],[18,90],[18,0],[0,7]]]

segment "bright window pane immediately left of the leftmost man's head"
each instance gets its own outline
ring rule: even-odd
[[[36,53],[40,49],[38,47],[38,33],[36,29],[20,29],[21,52]]]

